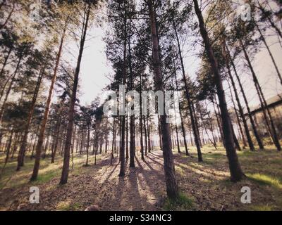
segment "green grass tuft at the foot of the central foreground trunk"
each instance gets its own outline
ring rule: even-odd
[[[192,199],[184,193],[180,193],[177,199],[167,198],[163,208],[166,211],[183,211],[192,210],[193,206],[194,203]]]

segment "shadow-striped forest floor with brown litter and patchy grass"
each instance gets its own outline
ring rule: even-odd
[[[183,150],[183,149],[182,149]],[[184,152],[184,150],[183,150]],[[191,201],[187,208],[164,204],[166,186],[161,150],[148,153],[145,161],[140,153],[135,168],[128,168],[125,177],[118,177],[119,163],[110,165],[109,155],[98,155],[97,165],[90,156],[85,167],[85,155],[75,156],[68,184],[60,186],[62,158],[50,164],[42,160],[38,180],[29,183],[33,160],[26,159],[25,167],[16,172],[16,159],[6,165],[0,177],[0,210],[85,210],[98,205],[100,210],[282,210],[282,153],[266,148],[238,152],[246,178],[236,184],[229,181],[228,162],[223,149],[204,147],[204,162],[197,162],[197,152],[190,149],[192,158],[174,150],[176,177],[180,192]],[[0,155],[0,166],[4,155]],[[29,202],[30,186],[38,186],[40,203]],[[250,204],[240,201],[241,188],[251,189]]]

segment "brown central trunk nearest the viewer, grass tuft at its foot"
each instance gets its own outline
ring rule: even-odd
[[[154,15],[154,6],[152,0],[147,1],[149,7],[149,21],[151,23],[152,34],[152,49],[153,49],[153,65],[156,89],[164,93],[164,86],[162,84],[161,65],[159,59],[159,40],[157,37],[157,23]],[[173,153],[171,150],[171,134],[168,124],[166,123],[166,113],[161,115],[161,134],[163,141],[163,155],[164,155],[164,174],[166,178],[166,192],[169,198],[179,198],[178,185],[176,182],[176,175],[173,162]]]

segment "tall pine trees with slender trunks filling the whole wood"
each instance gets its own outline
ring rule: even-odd
[[[202,146],[217,148],[222,143],[231,181],[240,181],[244,174],[236,150],[264,149],[262,126],[281,150],[281,136],[252,62],[265,47],[282,84],[268,44],[269,36],[276,35],[278,44],[281,41],[281,11],[276,10],[281,5],[278,1],[246,2],[252,8],[250,21],[240,20],[234,13],[238,4],[227,0],[201,4],[197,0],[48,1],[38,12],[39,20],[30,18],[32,2],[3,1],[0,146],[6,162],[18,154],[20,170],[30,153],[35,158],[30,178],[34,181],[42,158],[50,155],[52,163],[61,155],[60,184],[66,184],[75,153],[87,155],[86,165],[89,154],[95,155],[95,164],[97,154],[109,153],[111,163],[118,155],[119,176],[125,176],[125,159],[135,167],[137,149],[145,160],[159,146],[168,197],[178,198],[173,148],[180,153],[183,147],[189,156],[189,146],[195,145],[202,162]],[[104,115],[104,100],[99,98],[90,105],[80,104],[80,65],[87,32],[104,8],[106,57],[114,69],[105,91],[118,93],[121,84],[126,84],[126,91],[182,91],[174,96],[180,104],[173,105],[171,123],[166,114],[145,116],[142,110],[140,115]],[[63,58],[71,41],[78,45],[76,65]],[[197,51],[200,68],[195,75],[185,67],[187,51]],[[250,73],[262,107],[265,124],[260,126],[250,110],[240,75],[243,70]],[[144,102],[140,98],[140,108]]]

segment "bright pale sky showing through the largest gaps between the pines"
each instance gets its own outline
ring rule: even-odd
[[[110,83],[110,80],[107,77],[112,74],[113,71],[111,69],[111,63],[106,60],[106,44],[103,41],[103,37],[106,35],[106,29],[107,26],[106,23],[104,23],[102,27],[93,26],[88,32],[88,39],[85,44],[80,71],[80,102],[82,104],[90,104],[94,98],[102,96],[102,89],[106,84]],[[267,37],[266,41],[270,46],[271,53],[274,55],[279,70],[282,72],[282,47],[277,43],[277,37]],[[282,93],[282,86],[278,82],[278,76],[276,75],[274,65],[271,62],[271,58],[269,57],[266,48],[263,45],[262,47],[262,51],[259,51],[252,60],[252,64],[266,98],[271,98],[272,96]],[[71,48],[75,49],[75,45]],[[238,60],[244,60],[243,56]],[[76,58],[72,57],[71,62],[75,63]],[[185,71],[192,78],[195,77],[195,72],[197,72],[199,63],[200,60],[195,57],[195,52],[186,49],[184,54]],[[239,75],[243,82],[250,106],[257,105],[259,99],[257,98],[255,86],[252,84],[250,71],[246,70],[240,72]],[[226,89],[228,88],[226,84],[224,87]],[[242,95],[240,96],[242,97]],[[226,91],[226,98],[228,105],[231,106],[231,99],[229,98],[228,91]]]

